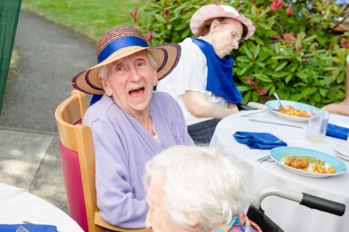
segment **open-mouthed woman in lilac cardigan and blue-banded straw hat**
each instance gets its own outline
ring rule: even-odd
[[[180,51],[174,43],[149,47],[137,29],[114,27],[98,41],[98,64],[72,80],[78,90],[103,94],[83,124],[92,130],[97,205],[111,224],[144,227],[146,162],[173,145],[193,144],[177,101],[153,92],[177,65]]]

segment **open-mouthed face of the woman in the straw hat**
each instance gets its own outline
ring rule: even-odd
[[[148,109],[158,79],[146,51],[114,61],[107,70],[107,80],[101,79],[103,88],[121,109],[131,115]]]

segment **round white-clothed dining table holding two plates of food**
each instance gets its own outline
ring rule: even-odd
[[[268,123],[260,121],[267,121]],[[348,128],[349,117],[330,114],[329,123]],[[289,147],[301,147],[324,152],[349,166],[349,161],[337,156],[334,150],[335,146],[346,143],[346,140],[326,136],[323,142],[310,142],[306,139],[306,130],[307,122],[290,121],[278,117],[270,109],[241,111],[220,120],[210,146],[220,146],[228,149],[233,162],[248,173],[254,183],[256,192],[265,187],[276,186],[340,202],[348,207],[348,170],[326,178],[303,176],[285,169],[278,162],[257,162],[258,159],[268,156],[271,150],[251,149],[246,144],[237,142],[233,137],[236,132],[270,133],[282,139]],[[284,231],[349,231],[348,209],[343,216],[337,216],[310,209],[278,196],[264,198],[261,207],[265,214]]]

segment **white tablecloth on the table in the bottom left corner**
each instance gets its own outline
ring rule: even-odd
[[[0,183],[0,224],[56,225],[61,232],[83,232],[76,221],[55,205],[25,189]]]

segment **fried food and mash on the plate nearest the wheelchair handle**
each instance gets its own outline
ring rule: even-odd
[[[336,171],[332,165],[326,165],[326,162],[311,156],[285,156],[283,160],[285,161],[285,165],[302,169],[303,171],[326,174],[331,174]],[[328,167],[326,168],[326,166]]]

